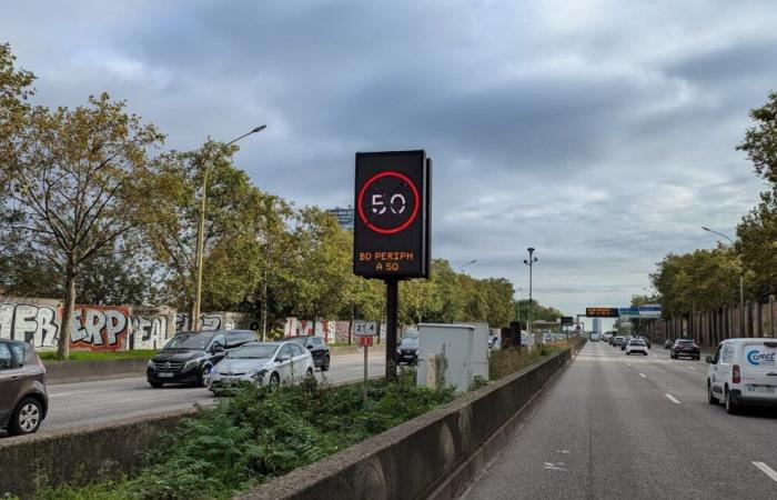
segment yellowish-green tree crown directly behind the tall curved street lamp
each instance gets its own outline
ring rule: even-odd
[[[231,309],[253,296],[268,276],[276,232],[290,209],[263,193],[232,164],[236,146],[205,142],[195,151],[160,156],[145,179],[151,200],[144,238],[168,283],[167,301],[192,314],[196,228],[203,177],[210,170],[205,209],[202,310]],[[272,250],[272,251],[271,251]]]

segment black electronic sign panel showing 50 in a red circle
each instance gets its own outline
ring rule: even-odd
[[[355,274],[428,278],[430,173],[424,151],[356,153]]]

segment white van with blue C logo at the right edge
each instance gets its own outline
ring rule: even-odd
[[[708,356],[707,398],[728,413],[746,406],[777,407],[777,339],[728,339]]]

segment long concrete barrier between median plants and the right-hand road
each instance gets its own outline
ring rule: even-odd
[[[446,407],[262,484],[240,500],[453,498],[488,462],[574,347]]]

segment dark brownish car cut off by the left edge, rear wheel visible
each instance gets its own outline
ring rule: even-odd
[[[0,429],[31,434],[48,410],[46,368],[32,346],[0,340]]]

